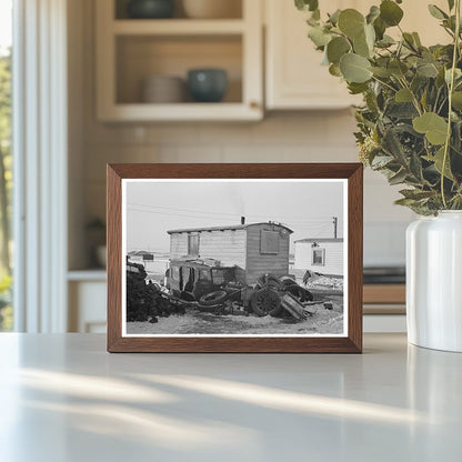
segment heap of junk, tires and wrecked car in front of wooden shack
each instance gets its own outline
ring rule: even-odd
[[[144,267],[127,261],[127,321],[158,322],[159,317],[184,314],[188,308],[214,314],[251,313],[303,321],[318,307],[332,310],[324,294],[312,292],[291,277],[262,275],[254,284],[235,281],[232,268],[198,261],[171,265],[167,287],[147,281]],[[181,274],[181,277],[178,277]]]

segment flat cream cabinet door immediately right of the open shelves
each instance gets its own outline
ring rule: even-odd
[[[364,0],[332,0],[329,11],[361,8]],[[267,13],[267,108],[338,109],[358,102],[345,83],[321,66],[323,56],[307,37],[305,12],[293,1],[265,0]]]

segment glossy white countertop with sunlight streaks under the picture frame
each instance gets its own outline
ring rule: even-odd
[[[0,461],[458,461],[462,354],[109,354],[0,334]]]

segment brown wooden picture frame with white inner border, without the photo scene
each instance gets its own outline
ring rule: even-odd
[[[363,167],[360,163],[267,163],[267,164],[108,164],[108,351],[109,352],[213,352],[213,353],[361,353],[362,352],[362,190]],[[342,182],[344,184],[343,203],[343,231],[345,242],[343,244],[345,288],[342,304],[348,307],[348,312],[342,311],[344,330],[341,334],[198,334],[198,335],[129,335],[123,325],[127,322],[127,295],[123,287],[128,267],[127,248],[122,235],[127,223],[123,222],[124,191],[127,184],[134,182],[151,182],[155,188],[160,182],[189,181],[211,182],[223,181],[239,182],[242,184],[259,182],[279,184],[294,184],[295,182],[312,182],[314,185],[328,182]],[[150,183],[150,184],[151,184]],[[124,187],[122,187],[124,184]],[[311,184],[311,183],[310,183]],[[314,185],[310,188],[314,188]],[[131,188],[131,187],[130,187]],[[289,188],[289,187],[288,187]],[[308,187],[307,187],[308,188]],[[284,189],[285,190],[285,189]],[[305,201],[309,201],[307,198]],[[162,203],[162,202],[161,202]],[[308,203],[308,202],[307,202]],[[149,205],[144,205],[149,207]],[[160,207],[160,205],[155,205]],[[180,209],[174,209],[180,210]],[[174,214],[174,213],[165,213]],[[122,217],[123,215],[123,217]],[[337,227],[337,219],[335,227]],[[273,227],[285,228],[275,221],[268,221]],[[268,224],[267,221],[260,224]],[[259,224],[259,223],[257,223]],[[252,224],[252,225],[257,225]],[[248,224],[243,225],[249,227]],[[241,227],[223,227],[220,231]],[[335,228],[337,229],[337,228]],[[215,229],[213,229],[215,230]],[[178,232],[190,233],[194,230],[180,230]],[[200,229],[199,232],[203,230]],[[212,229],[207,231],[212,232]],[[290,231],[290,230],[289,230]],[[168,231],[174,233],[177,231]],[[282,230],[281,237],[288,231]],[[171,237],[170,237],[171,238]],[[337,234],[335,234],[337,238]],[[202,238],[201,238],[202,239]],[[292,238],[290,238],[292,239]],[[318,239],[319,240],[319,239]],[[319,245],[315,239],[304,239],[311,247]],[[292,241],[291,241],[292,242]],[[299,242],[299,241],[298,241]],[[194,242],[194,245],[197,243]],[[170,244],[171,245],[171,244]],[[270,245],[270,244],[267,244]],[[291,244],[292,245],[292,244]],[[293,244],[294,245],[294,244]],[[170,248],[171,249],[171,248]],[[122,254],[125,252],[125,254]],[[268,251],[267,251],[268,252]],[[288,251],[289,252],[289,251]],[[318,254],[318,263],[321,253]],[[127,262],[127,263],[125,263]],[[172,264],[172,254],[168,264]],[[201,263],[202,264],[202,263]],[[122,271],[122,268],[125,268]],[[131,267],[130,267],[131,268]],[[134,267],[133,267],[134,268]],[[169,270],[167,274],[171,274]],[[310,277],[317,273],[308,273]],[[260,290],[259,285],[252,285]],[[252,289],[253,290],[253,289]],[[280,289],[278,289],[280,290]],[[125,297],[123,299],[123,297]],[[170,297],[170,295],[169,295]],[[282,295],[283,297],[283,295]],[[289,295],[288,295],[289,297]],[[284,299],[289,300],[289,299]],[[309,303],[309,302],[305,302]],[[314,303],[314,302],[312,302]],[[321,302],[320,302],[321,303]],[[329,304],[329,303],[328,303]],[[327,303],[324,303],[325,308]],[[247,313],[248,314],[248,313]],[[287,314],[287,313],[285,313]],[[340,318],[340,315],[339,315]],[[125,321],[122,323],[122,319]],[[244,319],[244,318],[242,318]],[[134,324],[133,324],[134,325]],[[129,325],[131,327],[131,324]]]

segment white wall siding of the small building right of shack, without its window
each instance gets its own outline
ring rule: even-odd
[[[325,264],[313,264],[311,242],[295,242],[294,268],[329,275],[343,275],[343,242],[319,242],[325,249]]]

